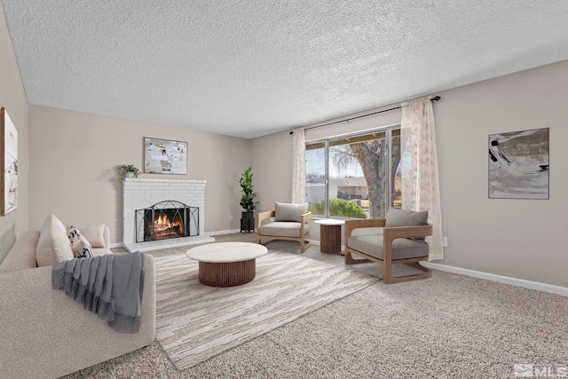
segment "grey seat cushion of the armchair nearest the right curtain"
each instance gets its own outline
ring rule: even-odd
[[[360,251],[367,256],[383,260],[383,234],[366,234],[351,236],[347,240],[349,249]],[[428,257],[430,247],[424,241],[397,238],[390,248],[391,259],[408,259]]]

